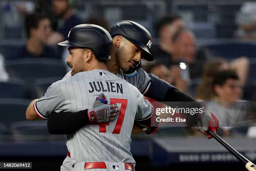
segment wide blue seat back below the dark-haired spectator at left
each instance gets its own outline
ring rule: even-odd
[[[25,80],[33,85],[35,79],[64,77],[66,68],[58,59],[15,59],[6,60],[5,69],[11,78]]]

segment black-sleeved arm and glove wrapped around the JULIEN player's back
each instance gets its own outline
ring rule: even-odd
[[[51,112],[47,122],[48,131],[50,134],[71,134],[90,122],[113,121],[119,115],[120,108],[107,103],[104,94],[100,94],[89,109],[79,112]]]

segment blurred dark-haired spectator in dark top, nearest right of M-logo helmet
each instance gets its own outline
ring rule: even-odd
[[[156,23],[159,46],[152,46],[150,50],[162,64],[169,64],[173,50],[172,36],[181,27],[184,27],[184,22],[179,15],[166,16]]]

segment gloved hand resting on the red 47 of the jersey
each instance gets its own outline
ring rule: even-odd
[[[101,93],[96,98],[94,105],[88,109],[88,117],[91,122],[109,122],[116,119],[119,115],[120,108],[116,104],[110,105],[107,103],[108,101],[105,100],[105,95]]]

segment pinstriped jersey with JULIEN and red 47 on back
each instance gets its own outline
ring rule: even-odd
[[[82,161],[125,162],[135,165],[130,153],[134,119],[150,117],[153,107],[136,87],[115,74],[95,69],[55,82],[34,107],[47,118],[53,111],[78,112],[92,107],[97,96],[104,93],[109,103],[120,107],[118,119],[110,123],[86,125],[67,136],[72,165]]]

